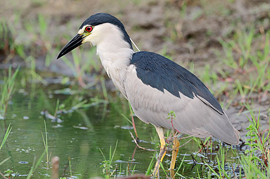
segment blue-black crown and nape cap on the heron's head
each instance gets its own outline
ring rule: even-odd
[[[131,44],[130,38],[125,30],[124,25],[121,23],[121,21],[118,18],[116,18],[108,13],[97,13],[97,14],[91,15],[83,22],[80,29],[82,29],[85,25],[98,26],[98,25],[104,24],[104,23],[110,23],[110,24],[113,24],[113,25],[119,27],[119,29],[124,34],[124,40],[130,44],[130,48],[132,49],[132,44]]]

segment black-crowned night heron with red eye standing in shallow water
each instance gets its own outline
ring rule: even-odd
[[[164,128],[199,138],[214,136],[232,145],[239,143],[239,132],[207,87],[194,74],[162,55],[134,52],[124,25],[116,17],[107,13],[91,15],[57,59],[84,42],[97,46],[104,69],[136,116],[156,127],[161,149],[165,146]],[[172,123],[167,119],[170,111],[176,114]],[[175,139],[173,148],[178,146]],[[172,152],[172,170],[177,152],[178,149]],[[159,163],[155,171],[158,168]]]

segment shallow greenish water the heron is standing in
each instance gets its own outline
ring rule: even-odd
[[[11,123],[12,126],[8,141],[0,151],[1,161],[9,156],[11,158],[1,165],[1,172],[10,169],[17,172],[19,177],[25,177],[29,173],[34,158],[37,161],[44,151],[41,134],[42,130],[45,135],[43,111],[46,109],[53,115],[57,99],[60,99],[60,104],[65,104],[65,109],[69,110],[73,106],[72,102],[86,99],[88,103],[91,103],[90,98],[94,97],[91,94],[100,93],[100,91],[89,91],[87,93],[90,95],[87,96],[81,94],[55,94],[53,89],[61,87],[63,88],[60,85],[49,87],[36,85],[23,89],[18,84],[15,86],[7,110],[6,120],[0,121],[1,136],[4,136],[4,123],[7,125]],[[104,158],[100,149],[108,160],[110,146],[114,149],[117,141],[118,146],[112,163],[112,169],[117,165],[117,172],[115,173],[118,173],[118,176],[126,175],[129,172],[131,173],[133,169],[135,173],[145,173],[155,152],[138,149],[132,142],[129,134],[129,131],[133,132],[132,125],[121,115],[124,114],[130,118],[127,101],[123,97],[119,97],[118,92],[109,93],[108,104],[104,103],[103,100],[96,100],[95,102],[97,101],[98,103],[93,103],[91,107],[72,109],[67,114],[59,115],[59,118],[63,120],[61,123],[51,122],[50,119],[46,120],[48,151],[51,157],[59,156],[60,158],[59,175],[62,176],[63,171],[66,170],[64,176],[70,176],[69,167],[67,166],[68,158],[70,158],[74,177],[102,176],[103,168],[101,168],[101,164]],[[145,148],[159,149],[155,128],[143,123],[138,118],[135,118],[135,121],[139,138],[143,140],[140,145]],[[152,143],[152,140],[155,143]],[[180,143],[182,144],[185,141],[187,140],[182,140]],[[194,162],[191,154],[198,151],[197,144],[191,141],[179,151],[176,167],[179,166],[185,156],[180,173],[184,176],[195,177],[197,167],[199,171],[202,170],[202,165],[199,163],[202,162],[201,159],[204,159],[197,156],[198,164],[196,167],[192,167]],[[237,160],[230,159],[230,155],[232,155],[231,151],[228,153],[230,163]],[[169,156],[170,153],[164,158],[163,165],[165,169],[169,168]],[[216,154],[213,154],[212,157],[215,159]],[[208,161],[209,159],[205,160]],[[51,171],[47,169],[46,163],[45,155],[41,165],[34,172],[33,178],[49,178]],[[129,167],[128,172],[127,166]],[[161,176],[165,177],[163,171],[160,173]]]

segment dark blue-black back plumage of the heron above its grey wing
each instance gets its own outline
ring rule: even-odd
[[[136,66],[137,76],[144,84],[157,88],[161,92],[166,89],[179,98],[179,92],[191,99],[195,94],[213,105],[220,114],[224,114],[219,102],[203,82],[170,59],[152,52],[136,52],[130,64]]]

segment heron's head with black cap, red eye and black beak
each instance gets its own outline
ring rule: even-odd
[[[97,13],[83,22],[79,32],[66,44],[57,59],[85,42],[90,42],[93,46],[103,43],[103,46],[107,47],[127,46],[132,49],[130,38],[121,21],[110,14]]]

